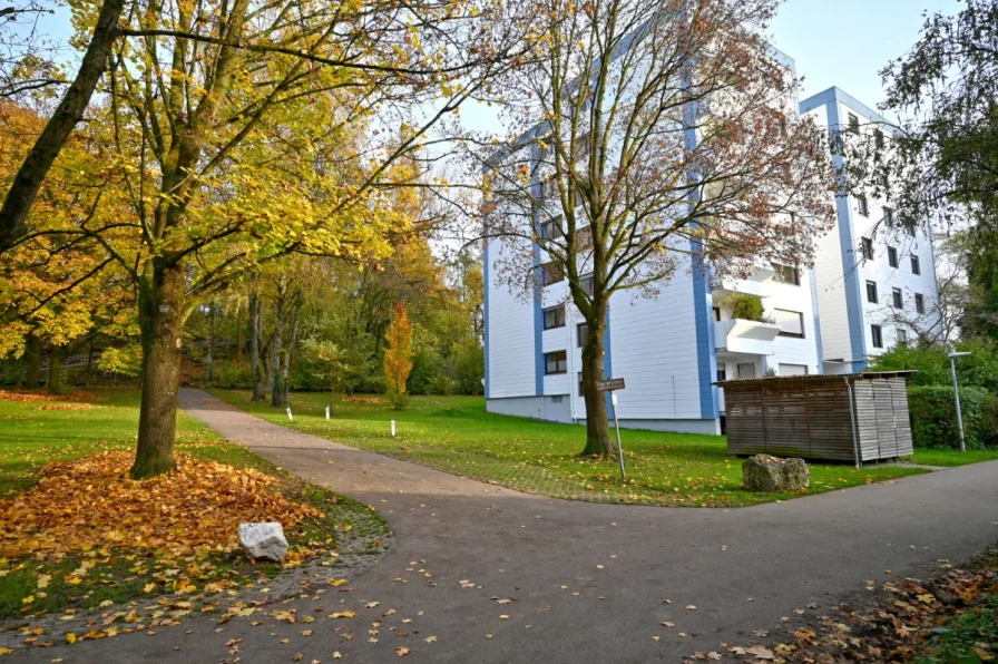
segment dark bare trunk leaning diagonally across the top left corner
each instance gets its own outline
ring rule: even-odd
[[[111,45],[118,35],[118,17],[124,7],[125,0],[104,0],[76,78],[18,169],[0,207],[0,252],[23,235],[25,221],[49,168],[66,145],[69,134],[84,119],[94,89],[107,69]]]

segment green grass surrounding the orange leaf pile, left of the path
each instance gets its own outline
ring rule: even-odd
[[[89,410],[46,410],[43,407],[53,402],[0,400],[0,500],[30,489],[47,463],[101,451],[134,449],[138,430],[138,391],[95,392],[100,401],[92,403],[99,408]],[[177,451],[274,476],[278,479],[277,488],[288,499],[310,502],[321,509],[323,516],[304,521],[299,534],[287,533],[292,546],[312,547],[317,541],[323,543],[323,548],[349,546],[352,553],[363,554],[374,549],[354,549],[379,548],[380,540],[389,536],[384,520],[366,506],[278,470],[268,460],[226,442],[184,413],[177,421]],[[80,567],[84,560],[92,564],[84,582],[67,583],[71,570]],[[209,583],[226,580],[237,586],[253,585],[256,579],[265,582],[280,572],[280,565],[251,564],[238,553],[212,553],[207,557],[182,559],[160,551],[101,548],[71,553],[62,558],[41,555],[0,558],[0,627],[9,619],[169,595],[184,578],[204,595],[204,586]],[[43,589],[39,587],[41,575],[50,577]],[[28,597],[30,603],[25,602]],[[192,595],[188,592],[184,597],[192,598]],[[211,602],[213,595],[205,597]]]

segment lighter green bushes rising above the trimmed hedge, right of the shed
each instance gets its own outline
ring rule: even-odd
[[[967,340],[957,344],[957,350],[970,354],[959,358],[957,380],[960,387],[982,388],[998,394],[998,342],[991,340]],[[894,346],[877,357],[870,371],[914,370],[910,385],[952,384],[949,357],[941,346],[906,348]]]

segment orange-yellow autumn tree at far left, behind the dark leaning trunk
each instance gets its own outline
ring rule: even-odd
[[[17,164],[43,125],[23,106],[0,101],[0,183],[13,178]],[[108,196],[96,211],[100,196],[77,189],[80,179],[94,175],[85,146],[72,141],[40,193],[39,227],[76,228],[87,214],[121,213],[120,198]],[[134,302],[131,282],[99,247],[72,242],[61,233],[40,234],[7,252],[0,263],[0,357],[26,354],[26,382],[37,387],[41,358],[47,355],[47,387],[59,393],[61,361],[67,355],[95,340],[121,341],[137,332]]]

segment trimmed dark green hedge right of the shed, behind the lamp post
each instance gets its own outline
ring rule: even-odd
[[[963,434],[969,449],[980,449],[995,438],[998,401],[981,388],[960,388]],[[949,385],[908,388],[911,437],[914,447],[960,447],[957,407]],[[989,422],[990,420],[990,422]]]

